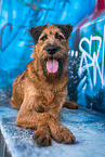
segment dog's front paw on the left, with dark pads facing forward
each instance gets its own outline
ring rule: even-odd
[[[49,146],[52,144],[52,139],[50,136],[50,133],[43,130],[35,131],[32,139],[37,144],[37,146]]]

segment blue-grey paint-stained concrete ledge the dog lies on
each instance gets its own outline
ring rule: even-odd
[[[18,110],[12,109],[9,105],[0,107],[1,139],[4,139],[4,141],[1,140],[1,157],[105,156],[105,115],[86,108],[78,110],[64,108],[61,122],[74,132],[77,138],[76,143],[64,145],[53,141],[52,146],[40,148],[31,140],[34,130],[15,126],[17,113]]]

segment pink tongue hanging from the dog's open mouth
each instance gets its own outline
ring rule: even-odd
[[[47,69],[49,73],[56,73],[58,69],[58,62],[56,60],[48,60]]]

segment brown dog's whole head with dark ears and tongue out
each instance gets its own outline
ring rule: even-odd
[[[65,73],[71,30],[71,25],[44,25],[29,30],[36,44],[32,55],[40,61],[43,74],[49,80],[60,78]]]

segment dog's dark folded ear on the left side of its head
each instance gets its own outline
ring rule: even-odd
[[[29,29],[30,36],[34,39],[34,43],[36,44],[38,42],[39,36],[41,35],[42,30],[47,27],[48,25],[43,26],[36,26]]]

